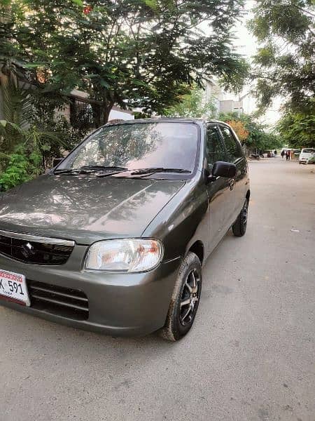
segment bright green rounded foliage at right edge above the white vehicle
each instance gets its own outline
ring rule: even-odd
[[[315,146],[315,114],[286,112],[277,128],[289,147]]]

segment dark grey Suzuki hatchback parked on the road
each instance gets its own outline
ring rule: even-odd
[[[249,195],[225,123],[106,124],[50,173],[0,196],[0,303],[179,340],[195,320],[202,265],[230,227],[246,232]]]

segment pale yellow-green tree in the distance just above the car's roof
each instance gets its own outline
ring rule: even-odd
[[[216,116],[216,107],[212,100],[204,100],[203,91],[194,86],[189,93],[179,98],[176,105],[166,109],[163,115],[167,117],[213,119]]]

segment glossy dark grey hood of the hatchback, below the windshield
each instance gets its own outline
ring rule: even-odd
[[[0,194],[0,229],[72,239],[141,236],[181,180],[42,175]]]

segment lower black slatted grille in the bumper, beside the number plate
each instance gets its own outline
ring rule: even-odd
[[[88,319],[89,304],[82,291],[29,279],[27,286],[32,308],[74,320]]]

